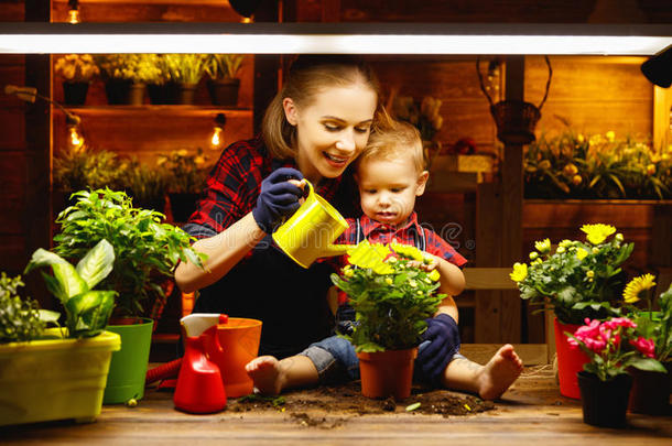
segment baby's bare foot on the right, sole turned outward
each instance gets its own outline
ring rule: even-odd
[[[509,389],[522,372],[522,360],[507,344],[484,366],[478,377],[478,394],[484,400],[496,400]]]

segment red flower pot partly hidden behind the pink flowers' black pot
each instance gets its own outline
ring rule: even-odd
[[[557,352],[557,378],[560,380],[560,393],[563,396],[578,400],[581,391],[576,373],[584,369],[584,365],[589,361],[589,358],[581,349],[573,349],[567,342],[567,333],[574,333],[579,325],[563,324],[553,319],[555,328],[555,351]]]

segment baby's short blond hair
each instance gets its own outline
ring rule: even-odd
[[[367,145],[355,161],[356,166],[364,160],[395,160],[411,154],[418,173],[426,167],[420,131],[404,121],[390,118],[384,111],[378,113],[377,123],[371,131]]]

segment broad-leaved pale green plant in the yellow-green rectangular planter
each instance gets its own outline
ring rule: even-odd
[[[86,252],[77,266],[40,248],[33,252],[24,273],[51,266],[53,275],[42,272],[42,276],[47,290],[65,308],[68,337],[91,337],[105,329],[115,307],[116,291],[94,290],[112,271],[113,263],[115,249],[102,239]]]

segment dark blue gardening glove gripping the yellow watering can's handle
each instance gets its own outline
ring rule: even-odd
[[[303,180],[303,175],[295,168],[280,167],[261,182],[252,217],[267,233],[274,232],[286,217],[299,209],[303,191],[288,183],[288,180]]]

